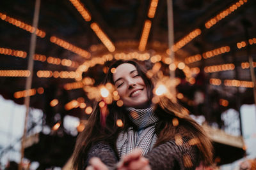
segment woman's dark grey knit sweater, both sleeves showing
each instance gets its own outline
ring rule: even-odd
[[[187,142],[184,139],[182,145],[177,145],[174,140],[170,140],[156,146],[144,157],[149,160],[152,170],[195,169],[199,162],[198,148],[188,145]],[[88,160],[92,157],[99,157],[109,169],[115,169],[116,163],[119,160],[113,148],[104,141],[96,143],[90,148],[84,167],[88,165]]]

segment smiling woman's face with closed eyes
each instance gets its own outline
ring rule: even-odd
[[[124,106],[132,108],[147,107],[147,88],[134,65],[124,63],[116,67],[113,81],[120,98],[124,101]]]

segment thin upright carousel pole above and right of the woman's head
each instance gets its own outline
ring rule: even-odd
[[[168,48],[170,50],[169,57],[174,63],[174,52],[172,46],[174,44],[174,29],[173,29],[173,5],[172,0],[167,0],[167,18],[168,18]],[[175,71],[170,70],[170,78],[175,80]],[[173,86],[172,92],[176,96],[175,86]]]

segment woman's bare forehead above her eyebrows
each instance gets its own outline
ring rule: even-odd
[[[129,63],[120,64],[116,67],[116,73],[113,74],[113,80],[122,77],[122,76],[128,76],[131,71],[136,70],[136,67]]]

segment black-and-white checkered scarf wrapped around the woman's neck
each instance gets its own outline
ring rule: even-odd
[[[153,148],[157,140],[155,127],[158,118],[153,108],[127,108],[127,110],[129,111],[129,118],[138,126],[138,131],[134,131],[133,127],[129,127],[127,131],[120,132],[116,141],[116,148],[120,158],[127,153],[131,153],[134,148],[140,148],[142,155],[145,155]]]

